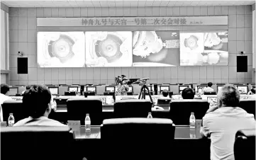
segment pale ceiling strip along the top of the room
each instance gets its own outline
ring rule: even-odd
[[[159,6],[240,6],[252,5],[255,1],[174,1],[174,0],[48,0],[48,1],[1,1],[9,7],[159,7]]]

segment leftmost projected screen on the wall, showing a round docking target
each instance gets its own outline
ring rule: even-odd
[[[38,32],[38,67],[84,67],[83,32]]]

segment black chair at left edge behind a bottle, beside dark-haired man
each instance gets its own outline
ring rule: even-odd
[[[3,120],[6,122],[8,121],[10,113],[13,113],[15,122],[18,122],[23,118],[28,118],[28,115],[26,115],[26,110],[23,108],[22,101],[4,101],[1,106],[3,111]]]

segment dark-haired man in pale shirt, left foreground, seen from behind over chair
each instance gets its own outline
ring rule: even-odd
[[[51,94],[46,86],[34,85],[26,91],[22,99],[25,111],[29,117],[16,122],[13,126],[44,125],[44,126],[66,126],[57,120],[48,118],[52,110]]]

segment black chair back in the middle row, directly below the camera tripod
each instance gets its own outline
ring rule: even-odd
[[[152,103],[148,100],[121,100],[113,105],[113,114],[114,118],[147,118],[151,108]]]

